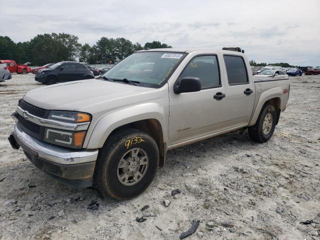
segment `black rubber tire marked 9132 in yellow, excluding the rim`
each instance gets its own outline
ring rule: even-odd
[[[136,141],[136,137],[140,137],[138,139],[142,139],[142,141]],[[131,144],[127,144],[128,141]],[[121,183],[118,178],[118,172],[121,171],[118,169],[118,164],[123,155],[133,148],[139,148],[146,152],[148,164],[144,175],[134,185],[128,186]],[[117,200],[129,199],[139,195],[148,187],[154,178],[158,163],[159,150],[149,134],[133,128],[120,129],[112,133],[99,150],[95,165],[94,184],[105,197],[110,196]]]

